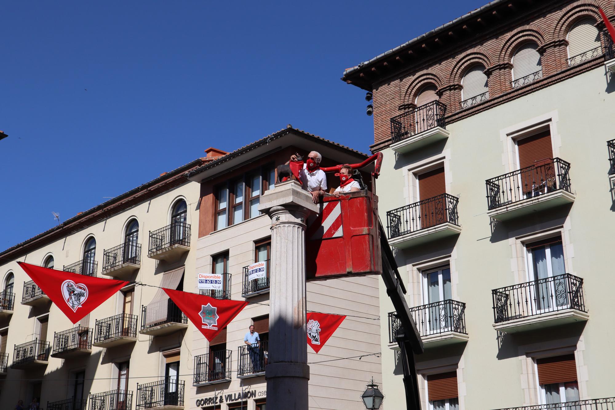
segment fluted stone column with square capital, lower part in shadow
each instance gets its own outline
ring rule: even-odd
[[[308,410],[305,230],[319,207],[289,180],[266,191],[258,209],[271,217],[267,407]]]

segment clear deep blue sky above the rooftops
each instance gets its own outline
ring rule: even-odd
[[[288,123],[367,153],[344,68],[485,3],[2,2],[0,251]]]

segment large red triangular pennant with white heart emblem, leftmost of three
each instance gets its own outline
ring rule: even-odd
[[[17,263],[73,324],[130,283]]]

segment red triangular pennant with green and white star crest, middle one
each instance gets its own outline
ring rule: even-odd
[[[248,304],[241,300],[215,299],[171,289],[164,291],[210,342]]]

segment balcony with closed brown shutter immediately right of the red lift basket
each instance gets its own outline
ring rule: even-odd
[[[387,211],[389,244],[403,249],[458,235],[459,198],[442,194]]]

